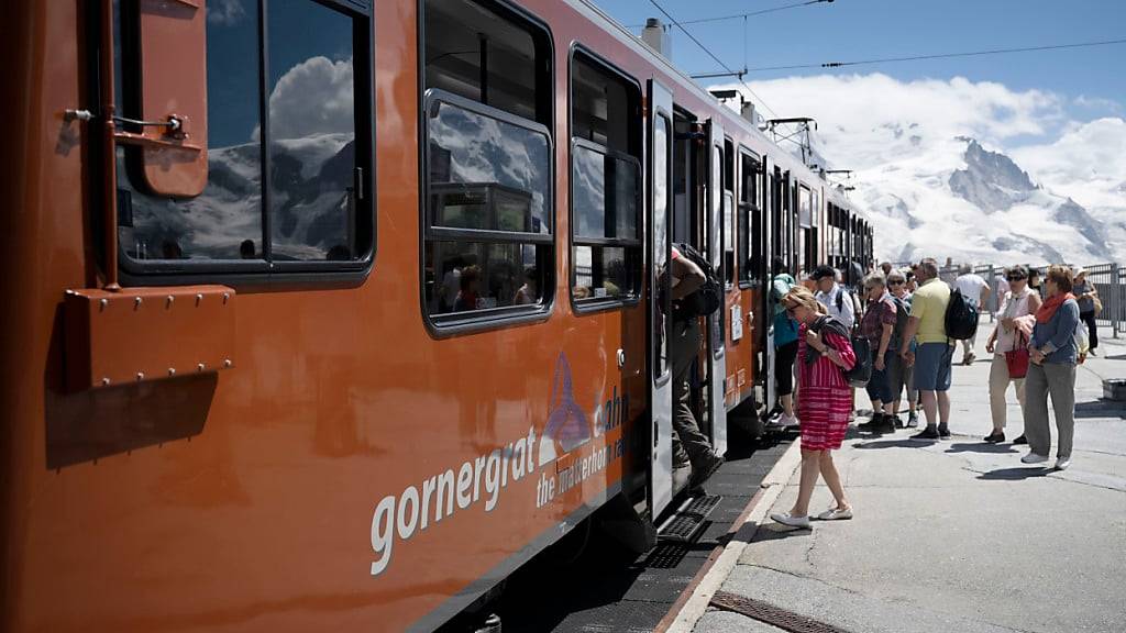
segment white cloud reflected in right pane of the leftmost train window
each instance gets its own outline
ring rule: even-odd
[[[355,133],[351,59],[310,57],[289,69],[270,93],[275,140]],[[256,134],[257,136],[257,134]]]

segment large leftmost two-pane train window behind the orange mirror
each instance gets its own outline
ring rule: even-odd
[[[271,5],[262,23],[258,2],[225,7],[206,23],[207,184],[189,198],[154,195],[141,173],[144,150],[119,146],[122,266],[361,270],[375,238],[369,16],[354,2],[303,0]],[[116,89],[132,118],[144,80],[131,35],[136,11],[118,15]]]

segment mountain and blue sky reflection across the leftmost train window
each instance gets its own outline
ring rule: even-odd
[[[223,0],[208,5],[207,15],[207,186],[186,200],[150,196],[132,185],[141,181],[128,171],[132,149],[120,150],[123,249],[134,259],[364,256],[370,235],[365,231],[357,239],[357,18],[312,0],[271,3],[265,25],[270,72],[263,81],[258,2]],[[267,197],[259,118],[263,83]],[[263,199],[269,244],[262,242]]]

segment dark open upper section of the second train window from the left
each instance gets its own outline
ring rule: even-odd
[[[551,123],[551,43],[500,3],[427,0],[426,86]]]

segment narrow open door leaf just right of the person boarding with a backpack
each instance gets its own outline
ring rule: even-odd
[[[705,253],[715,270],[716,277],[723,284],[724,261],[723,261],[723,125],[716,118],[708,121],[708,181],[707,181],[707,222],[705,223],[706,238],[704,241]],[[724,398],[727,377],[727,359],[725,356],[725,314],[726,310],[721,305],[707,318],[707,356],[711,368],[707,373],[708,384],[708,421],[711,428],[712,447],[716,455],[727,452],[727,407]]]

